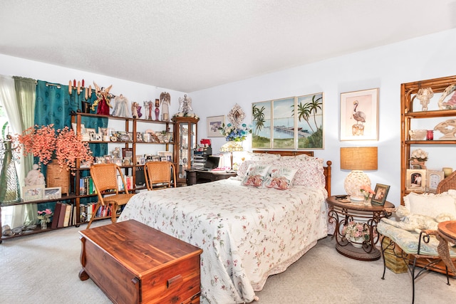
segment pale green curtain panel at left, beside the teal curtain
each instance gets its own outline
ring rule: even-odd
[[[35,111],[36,80],[14,76],[14,88],[16,89],[16,100],[21,117],[21,131],[33,126]],[[22,172],[32,169],[33,157],[21,157]],[[24,175],[25,176],[25,175]],[[21,184],[24,183],[21,181]],[[24,224],[38,224],[38,206],[36,204],[25,204]]]

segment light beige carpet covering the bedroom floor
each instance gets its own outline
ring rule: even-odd
[[[93,226],[109,224],[98,221]],[[71,227],[0,244],[0,303],[111,303],[90,279],[80,281],[81,241]],[[410,274],[387,269],[383,261],[356,261],[337,253],[331,237],[321,239],[284,273],[271,276],[259,300],[276,303],[411,303]],[[415,303],[455,303],[456,280],[428,272],[415,283]]]

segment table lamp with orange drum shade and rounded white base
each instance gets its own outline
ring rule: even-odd
[[[363,201],[361,187],[371,187],[371,179],[363,170],[377,169],[377,147],[341,148],[341,169],[352,170],[343,187],[353,201]]]

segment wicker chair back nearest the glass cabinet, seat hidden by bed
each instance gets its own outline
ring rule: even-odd
[[[172,162],[146,162],[144,175],[148,190],[176,187],[176,170]]]

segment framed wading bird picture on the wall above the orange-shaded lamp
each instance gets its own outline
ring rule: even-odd
[[[378,140],[378,88],[341,93],[341,140]]]

